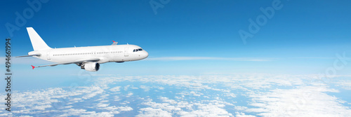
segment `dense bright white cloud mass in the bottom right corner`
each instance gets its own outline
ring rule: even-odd
[[[338,92],[326,86],[303,86],[296,89],[276,89],[271,92],[251,94],[251,106],[246,109],[259,116],[349,116],[351,110],[341,105],[339,99],[326,92]]]

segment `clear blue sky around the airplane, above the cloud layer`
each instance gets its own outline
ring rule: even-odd
[[[0,32],[6,38],[10,34],[5,24],[15,25],[15,13],[30,7],[26,1],[1,2]],[[272,7],[273,1],[171,0],[157,14],[149,2],[48,1],[13,32],[13,55],[32,51],[25,27],[34,27],[52,48],[110,45],[114,40],[141,46],[150,54],[150,60],[102,64],[97,74],[319,74],[333,67],[336,54],[351,56],[350,1],[282,0],[282,8],[246,44],[239,29],[247,31],[249,19],[262,15],[260,8]],[[160,57],[220,58],[152,60]],[[75,64],[34,70],[29,65],[13,69],[23,73],[19,77],[80,71]],[[349,61],[337,74],[350,70]]]

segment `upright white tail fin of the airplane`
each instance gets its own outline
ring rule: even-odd
[[[32,46],[34,50],[48,50],[51,49],[46,43],[41,39],[39,34],[35,32],[32,27],[27,27],[27,32],[29,34],[29,39],[32,42]]]

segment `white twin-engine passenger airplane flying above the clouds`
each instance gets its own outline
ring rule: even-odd
[[[77,64],[86,71],[98,71],[100,64],[106,62],[130,62],[143,60],[149,56],[143,48],[136,45],[117,45],[113,41],[110,46],[87,46],[73,48],[50,48],[32,27],[27,27],[29,39],[34,51],[18,57],[37,57],[41,60],[56,62],[37,67],[53,67],[59,64]],[[33,65],[32,69],[37,68]]]

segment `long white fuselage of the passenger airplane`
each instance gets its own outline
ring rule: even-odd
[[[52,48],[49,50],[35,50],[28,55],[40,54],[41,60],[50,62],[65,63],[77,60],[98,58],[98,63],[105,62],[128,62],[134,60],[143,60],[149,54],[145,50],[135,45],[112,45],[112,46],[88,46],[74,48]]]

